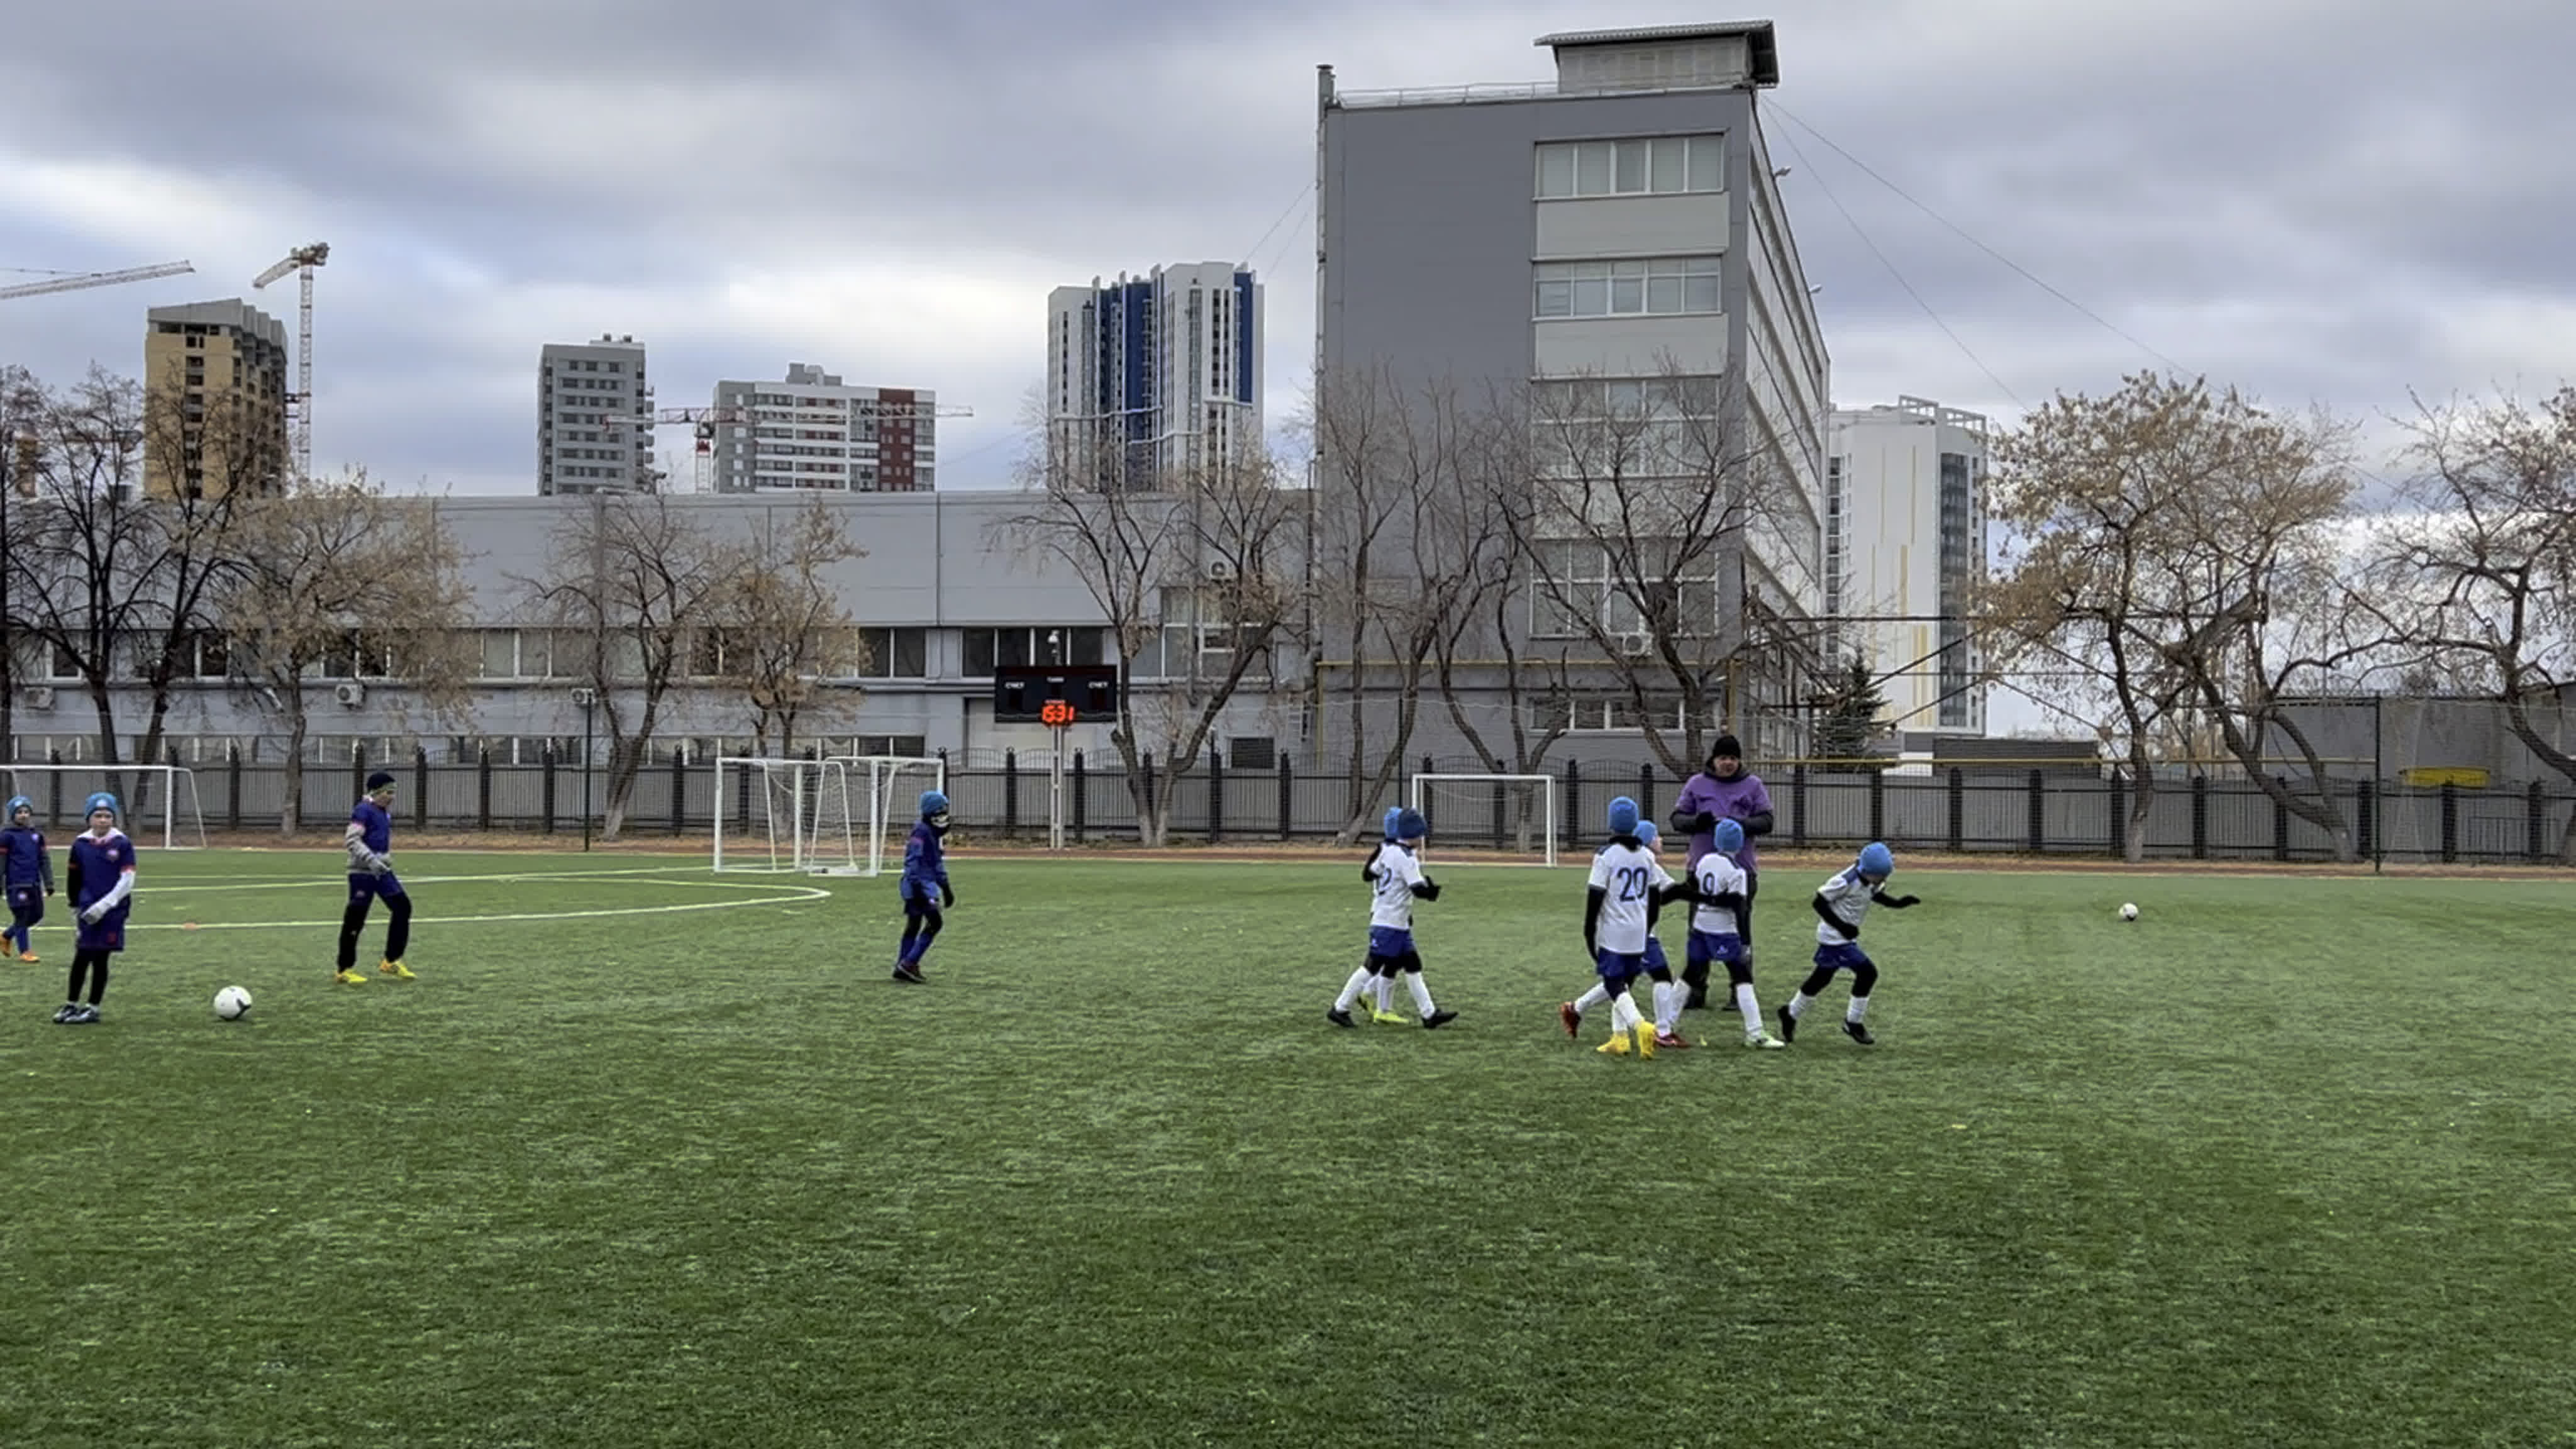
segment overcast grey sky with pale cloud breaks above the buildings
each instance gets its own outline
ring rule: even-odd
[[[216,297],[294,327],[250,278],[325,240],[317,467],[533,492],[538,348],[608,330],[665,407],[788,361],[933,387],[976,410],[943,485],[997,485],[1059,284],[1255,263],[1298,410],[1319,62],[1546,80],[1551,28],[1749,13],[1844,405],[2009,420],[2169,361],[2367,418],[2576,374],[2558,0],[18,5],[0,266],[196,276],[0,302],[0,361],[134,374],[147,307]]]

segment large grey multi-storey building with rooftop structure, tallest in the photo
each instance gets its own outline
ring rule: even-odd
[[[1528,629],[1551,650],[1587,632],[1597,642],[1602,627],[1636,627],[1641,588],[1674,585],[1677,629],[1700,650],[1716,639],[1728,652],[1723,639],[1741,639],[1752,611],[1785,621],[1713,673],[1726,724],[1757,750],[1798,748],[1821,663],[1806,621],[1824,608],[1829,392],[1762,134],[1759,93],[1780,83],[1772,23],[1538,44],[1556,57],[1553,83],[1340,90],[1319,67],[1319,389],[1327,405],[1332,389],[1376,379],[1468,402],[1517,397],[1533,415],[1592,420],[1600,436],[1698,446],[1698,467],[1651,454],[1628,467],[1667,469],[1677,485],[1705,477],[1705,498],[1739,508],[1741,529],[1685,578],[1643,585],[1623,583],[1600,547],[1569,547],[1566,567],[1595,570],[1607,624],[1533,603]],[[1533,436],[1543,469],[1558,467],[1548,441]],[[1327,462],[1319,477],[1332,472]],[[1623,650],[1649,652],[1643,639]],[[1605,719],[1620,709],[1613,701]]]

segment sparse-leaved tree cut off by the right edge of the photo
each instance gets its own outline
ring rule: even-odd
[[[2416,673],[2494,699],[2532,758],[2576,781],[2576,755],[2532,719],[2576,678],[2576,387],[2419,407],[2411,431],[2409,508],[2383,521],[2362,606]],[[2576,864],[2576,820],[2558,856]]]

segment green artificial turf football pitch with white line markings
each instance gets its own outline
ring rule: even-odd
[[[1340,1031],[1355,859],[961,859],[930,987],[891,882],[425,853],[337,987],[335,864],[0,967],[0,1444],[2576,1439],[2563,882],[1906,871],[1880,1047],[1636,1062],[1577,869]]]

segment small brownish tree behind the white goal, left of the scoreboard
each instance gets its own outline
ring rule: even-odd
[[[701,673],[716,673],[742,691],[762,755],[770,753],[773,735],[781,755],[793,753],[796,724],[817,709],[858,709],[855,688],[824,683],[853,678],[868,663],[868,647],[827,578],[832,565],[855,557],[866,557],[866,549],[850,541],[840,511],[819,498],[783,529],[775,518],[762,518],[719,603],[724,627],[701,634],[701,647],[716,647],[716,668]]]

